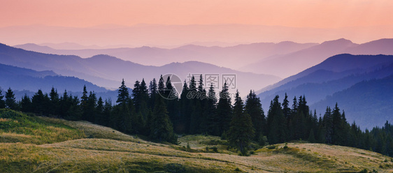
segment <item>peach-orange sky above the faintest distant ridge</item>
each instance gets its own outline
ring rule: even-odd
[[[391,0],[0,0],[0,3],[0,27],[248,24],[341,29],[342,33],[366,28],[358,35],[367,36],[352,38],[357,41],[393,37]],[[324,39],[321,37],[320,42]],[[36,42],[40,41],[45,40]]]

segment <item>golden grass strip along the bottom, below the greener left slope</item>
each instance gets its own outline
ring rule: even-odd
[[[345,146],[288,144],[288,149],[259,149],[244,157],[227,153],[188,153],[171,146],[108,139],[56,144],[1,144],[0,164],[19,165],[11,172],[156,172],[179,163],[196,172],[392,172],[391,158]],[[384,160],[389,160],[387,163]],[[29,163],[31,166],[20,164]],[[381,167],[382,166],[382,167]],[[0,168],[1,169],[1,168]],[[16,170],[15,170],[16,169]],[[8,172],[6,168],[0,172]]]

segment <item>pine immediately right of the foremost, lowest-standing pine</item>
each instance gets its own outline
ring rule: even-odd
[[[251,116],[252,125],[255,129],[255,141],[262,143],[264,137],[264,128],[266,126],[266,118],[262,104],[257,94],[254,91],[250,91],[245,100],[245,110]]]

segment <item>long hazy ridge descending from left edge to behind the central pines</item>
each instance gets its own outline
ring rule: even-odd
[[[71,55],[31,52],[7,45],[0,45],[0,57],[0,63],[33,70],[53,70],[60,75],[76,76],[101,87],[113,89],[119,87],[123,78],[127,82],[127,86],[131,87],[136,80],[141,81],[143,78],[146,82],[153,78],[158,80],[160,75],[167,73],[176,74],[182,80],[188,80],[187,76],[190,75],[234,74],[236,75],[237,89],[245,95],[250,89],[260,89],[280,80],[280,77],[273,75],[243,73],[197,61],[169,63],[165,66],[143,66],[103,54],[82,59]],[[220,86],[222,86],[222,77],[220,80]]]

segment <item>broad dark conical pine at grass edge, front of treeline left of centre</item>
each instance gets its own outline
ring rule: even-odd
[[[177,143],[177,137],[173,134],[173,126],[166,111],[166,104],[161,97],[157,97],[151,123],[150,138],[152,140]]]

